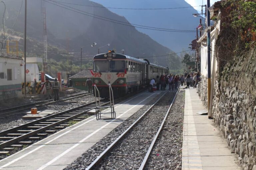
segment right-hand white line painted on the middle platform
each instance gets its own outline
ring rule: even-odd
[[[154,94],[152,94],[154,95]],[[146,99],[148,99],[149,97],[151,97],[152,95],[148,96]],[[124,112],[123,114],[121,114],[120,116],[118,116],[117,118],[120,118],[121,116],[123,116],[125,113],[127,113],[128,111],[130,111],[131,109],[133,109],[134,107],[136,107],[137,105],[139,105],[140,103],[144,102],[146,99],[142,100],[141,102],[139,102],[138,104],[134,105],[133,107],[131,107],[130,109],[128,109],[126,112]],[[106,126],[108,126],[109,124],[113,123],[115,121],[111,121],[109,123],[107,123],[106,125],[103,125],[102,127],[98,128],[97,130],[95,130],[94,132],[92,132],[91,134],[89,134],[88,136],[86,136],[85,138],[83,138],[82,140],[79,141],[79,143],[76,143],[75,145],[73,145],[72,147],[68,148],[67,150],[65,150],[64,152],[62,152],[60,155],[58,155],[57,157],[55,157],[54,159],[52,159],[51,161],[49,161],[48,163],[46,163],[45,165],[41,166],[40,168],[38,168],[37,170],[42,170],[44,168],[46,168],[47,166],[51,165],[52,163],[54,163],[55,161],[57,161],[58,159],[60,159],[62,156],[64,156],[65,154],[67,154],[69,151],[71,151],[72,149],[74,149],[75,147],[77,147],[78,145],[80,145],[82,142],[84,142],[86,139],[88,139],[89,137],[91,137],[92,135],[94,135],[95,133],[97,133],[98,131],[100,131],[102,128],[105,128]]]

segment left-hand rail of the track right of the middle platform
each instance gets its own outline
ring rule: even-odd
[[[169,90],[167,90],[153,105],[151,105],[151,107],[146,110],[129,128],[127,128],[114,142],[112,142],[87,168],[86,170],[91,170],[93,168],[95,168],[97,165],[99,165],[99,163],[101,162],[101,160],[118,144],[118,142],[133,128],[135,127],[135,125],[137,125],[137,123],[155,106],[155,104],[158,103],[158,101],[160,99],[162,99],[162,97],[165,96],[165,94],[169,92]],[[114,122],[114,121],[113,121]]]

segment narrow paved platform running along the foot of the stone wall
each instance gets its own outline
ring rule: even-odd
[[[196,89],[185,90],[182,170],[239,170],[237,157],[231,153],[221,132],[208,115]]]

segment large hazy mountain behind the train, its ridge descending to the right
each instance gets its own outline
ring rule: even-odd
[[[73,11],[70,11],[65,9],[70,9],[69,7],[65,7],[51,0],[47,1],[48,2],[42,1],[42,4],[40,0],[28,1],[27,35],[30,38],[40,41],[43,40],[43,20],[41,7],[45,7],[47,41],[50,44],[67,49],[68,52],[80,52],[80,48],[82,46],[83,55],[95,55],[98,52],[98,47],[110,43],[110,46],[100,48],[100,52],[106,52],[108,49],[115,49],[116,52],[121,52],[121,50],[124,49],[125,54],[140,58],[174,53],[169,48],[154,41],[148,35],[137,31],[131,24],[129,24],[125,17],[119,16],[106,8],[75,6],[74,8],[76,9],[71,9]],[[101,6],[100,4],[89,0],[63,0],[62,2],[76,2],[82,5]],[[10,29],[12,27],[18,14],[20,5],[21,0],[17,0],[15,2],[6,2],[5,26],[7,28]],[[0,8],[1,11],[3,11],[2,4]],[[0,13],[0,18],[2,18],[3,13]],[[90,13],[89,15],[93,17],[88,16],[88,13]],[[95,15],[101,17],[95,18]],[[103,20],[102,17],[111,18],[112,20],[105,21],[105,19]],[[121,21],[126,24],[116,24],[113,22],[113,20]],[[21,14],[19,15],[17,23],[14,26],[14,31],[20,33],[24,32],[24,3]],[[90,44],[93,42],[97,42],[97,45],[91,47]],[[20,42],[20,44],[22,45],[22,42]],[[37,44],[28,42],[28,47],[36,45]],[[50,45],[48,48],[50,48]],[[38,50],[42,51],[43,49]],[[169,60],[170,57],[171,62],[167,63],[166,59]],[[55,59],[55,56],[48,56],[48,58]],[[58,60],[59,58],[60,57],[58,57]],[[181,67],[181,62],[176,54],[168,57],[148,57],[147,59],[163,66],[168,66],[172,69],[179,69]]]

